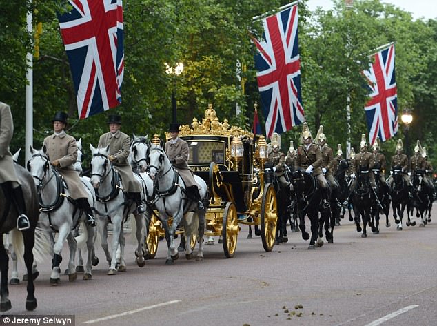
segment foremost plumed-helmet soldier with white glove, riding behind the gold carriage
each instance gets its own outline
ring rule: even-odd
[[[323,207],[327,209],[330,207],[329,185],[321,169],[322,154],[318,145],[312,142],[312,135],[306,122],[303,123],[301,144],[296,154],[296,168],[300,167],[305,170],[305,172],[313,174],[314,177],[316,177],[318,184],[321,186]]]

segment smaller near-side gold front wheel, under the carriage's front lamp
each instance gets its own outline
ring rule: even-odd
[[[223,211],[223,226],[221,236],[223,238],[223,251],[226,258],[232,258],[235,254],[236,241],[238,239],[238,219],[234,203],[227,203]]]

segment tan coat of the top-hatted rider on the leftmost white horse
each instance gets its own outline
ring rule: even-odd
[[[59,161],[57,171],[65,180],[70,197],[73,199],[88,198],[88,192],[79,177],[79,172],[74,170],[73,166],[77,159],[76,139],[62,131],[58,135],[52,134],[45,137],[43,145],[47,149],[49,160]]]

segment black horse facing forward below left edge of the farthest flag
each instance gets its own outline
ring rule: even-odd
[[[376,228],[370,218],[372,210],[374,210],[374,193],[370,184],[369,170],[360,167],[356,176],[356,185],[352,190],[352,205],[354,207],[356,231],[361,232],[362,238],[367,237],[367,224],[372,228],[372,232],[376,232]],[[360,225],[360,219],[363,220],[363,228]]]

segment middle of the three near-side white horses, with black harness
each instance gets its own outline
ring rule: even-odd
[[[108,159],[109,146],[105,148],[94,148],[90,144],[92,159],[91,159],[91,184],[96,189],[96,212],[97,230],[101,235],[101,246],[105,251],[106,260],[110,266],[108,275],[114,275],[117,272],[116,252],[120,245],[120,262],[118,270],[124,272],[126,265],[124,261],[124,246],[125,238],[123,234],[123,223],[132,213],[135,216],[136,222],[136,240],[138,247],[136,248],[136,264],[139,267],[145,265],[144,260],[144,239],[146,236],[145,215],[136,212],[136,203],[133,201],[125,201],[125,195],[122,191],[122,185],[119,174],[112,166]],[[141,198],[145,198],[145,185],[140,176],[134,174],[136,181],[141,187]],[[108,250],[108,223],[112,222],[113,235],[111,253]]]

